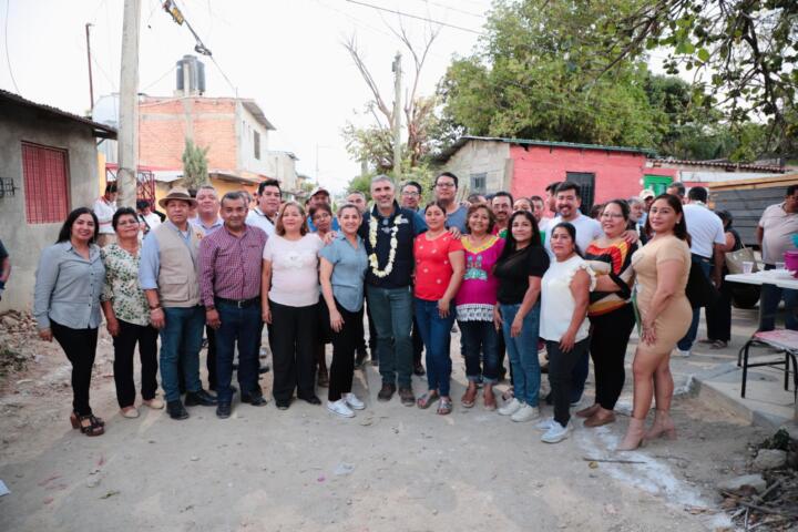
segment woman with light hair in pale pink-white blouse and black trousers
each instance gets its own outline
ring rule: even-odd
[[[310,405],[316,397],[318,342],[318,252],[321,239],[308,233],[307,216],[296,202],[280,208],[275,235],[264,248],[262,305],[269,327],[277,408],[290,406],[294,390]]]

